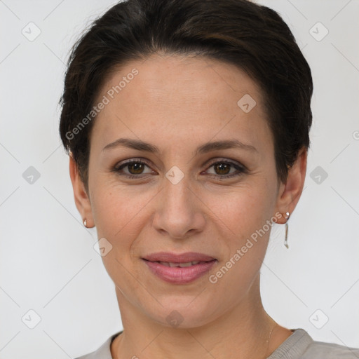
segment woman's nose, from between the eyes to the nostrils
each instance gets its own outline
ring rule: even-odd
[[[203,231],[205,217],[203,202],[189,187],[185,175],[177,184],[164,179],[154,215],[154,228],[170,238],[188,238]]]

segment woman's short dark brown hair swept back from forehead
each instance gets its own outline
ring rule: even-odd
[[[93,22],[72,48],[60,100],[60,136],[86,188],[90,113],[111,69],[153,53],[200,55],[236,65],[262,88],[278,178],[309,147],[311,69],[292,32],[271,8],[248,0],[128,0]],[[70,137],[70,138],[69,138]]]

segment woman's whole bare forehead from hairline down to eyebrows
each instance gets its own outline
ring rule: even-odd
[[[174,139],[192,136],[197,142],[217,133],[256,140],[265,129],[268,135],[259,86],[238,67],[218,60],[155,54],[131,61],[104,81],[97,102],[104,97],[108,103],[93,131],[103,144],[123,133],[142,140],[161,140],[163,133]]]

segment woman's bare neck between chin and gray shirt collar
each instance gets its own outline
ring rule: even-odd
[[[165,326],[145,316],[117,287],[116,294],[124,330],[111,346],[115,359],[264,359],[292,334],[264,311],[259,276],[238,305],[196,327]]]

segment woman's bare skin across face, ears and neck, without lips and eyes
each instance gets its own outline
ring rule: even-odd
[[[95,119],[90,137],[88,193],[72,158],[69,168],[76,207],[98,238],[113,246],[102,257],[116,285],[123,334],[111,345],[113,358],[266,358],[292,334],[266,313],[259,269],[270,231],[227,271],[216,273],[251,234],[277,213],[294,210],[306,174],[305,149],[287,181],[276,173],[274,147],[257,84],[233,65],[201,57],[151,55],[111,73],[98,99],[133,68],[139,73]],[[245,94],[256,106],[245,113]],[[103,148],[120,137],[156,145],[158,154],[126,147]],[[215,140],[239,140],[255,147],[194,154]],[[123,161],[142,158],[143,170]],[[212,161],[211,161],[212,160]],[[212,163],[232,161],[247,172]],[[166,172],[176,165],[184,177],[172,184]],[[137,171],[137,172],[136,172]],[[277,223],[285,223],[280,216]],[[192,283],[166,283],[141,259],[153,252],[202,252],[218,259],[208,275]],[[177,311],[182,322],[166,318]],[[272,332],[271,332],[272,330]],[[269,334],[271,332],[270,340]],[[269,341],[268,341],[269,340]]]

